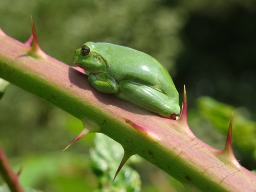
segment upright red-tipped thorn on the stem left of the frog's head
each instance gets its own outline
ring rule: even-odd
[[[34,24],[32,16],[30,16],[30,18],[31,18],[31,27],[32,27],[32,36],[31,36],[32,40],[30,37],[25,44],[30,45],[32,43],[32,46],[27,53],[28,53],[28,55],[31,55],[36,58],[43,58],[45,56],[45,52],[43,52],[39,46],[39,43],[37,40],[37,35],[36,35],[35,24]]]

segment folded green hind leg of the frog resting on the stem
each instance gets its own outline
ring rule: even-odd
[[[120,91],[115,95],[122,100],[126,100],[140,106],[148,111],[154,112],[164,117],[173,117],[179,114],[179,107],[169,99],[164,93],[149,86],[135,83],[128,80],[119,82]]]

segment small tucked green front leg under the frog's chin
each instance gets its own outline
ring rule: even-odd
[[[96,90],[104,93],[119,92],[119,85],[110,75],[106,73],[95,73],[88,76],[88,81]]]

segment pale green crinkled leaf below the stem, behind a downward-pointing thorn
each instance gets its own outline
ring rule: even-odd
[[[96,134],[95,149],[91,151],[92,168],[99,179],[99,191],[140,191],[139,174],[124,166],[112,182],[124,150],[120,144],[104,134]]]

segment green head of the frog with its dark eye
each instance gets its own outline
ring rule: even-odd
[[[73,64],[89,72],[104,71],[106,63],[96,50],[96,43],[87,42],[75,51]]]

